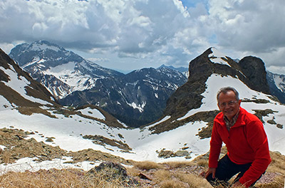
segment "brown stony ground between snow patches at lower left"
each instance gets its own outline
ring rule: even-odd
[[[36,157],[39,162],[45,160],[61,159],[63,156],[73,157],[73,163],[82,161],[112,161],[130,164],[121,157],[95,150],[81,150],[68,152],[60,147],[53,147],[44,142],[37,142],[33,138],[26,139],[34,132],[25,132],[17,129],[0,129],[0,145],[5,147],[0,150],[0,163],[13,163],[24,157]],[[46,137],[46,142],[53,142],[53,137]]]

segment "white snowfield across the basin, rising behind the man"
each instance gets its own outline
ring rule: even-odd
[[[221,63],[221,61],[218,63]],[[271,95],[252,90],[239,80],[238,77],[212,73],[207,78],[205,85],[205,90],[201,94],[203,97],[202,105],[199,108],[193,108],[185,112],[185,115],[173,120],[173,122],[186,120],[199,112],[208,113],[212,110],[218,110],[216,100],[217,90],[221,87],[231,85],[239,91],[239,97],[243,101],[242,108],[245,108],[250,113],[255,113],[256,111],[254,110],[269,109],[269,113],[266,113],[262,117],[264,128],[269,138],[269,149],[271,151],[279,151],[285,155],[284,105],[273,100]],[[17,85],[14,85],[14,87],[17,87]],[[1,103],[9,104],[5,98],[1,98]],[[46,142],[47,137],[54,137],[53,142],[46,142],[46,144],[59,146],[64,150],[78,151],[92,148],[124,157],[126,160],[150,160],[155,162],[187,160],[185,157],[159,157],[158,152],[163,150],[170,150],[174,153],[177,151],[187,151],[189,153],[187,158],[191,157],[191,159],[194,159],[209,150],[210,138],[206,137],[202,139],[197,135],[203,127],[208,126],[208,122],[202,120],[187,121],[184,125],[172,130],[153,134],[152,127],[170,120],[171,115],[167,115],[160,122],[148,125],[147,127],[127,129],[121,124],[118,127],[108,126],[104,122],[105,118],[107,118],[106,115],[97,108],[88,107],[78,109],[75,111],[80,113],[73,115],[53,113],[53,109],[47,109],[47,111],[54,115],[54,117],[48,117],[41,113],[23,115],[14,108],[1,108],[0,128],[13,127],[37,132],[35,135],[29,135],[29,137],[34,137],[36,140],[43,142]],[[131,150],[125,151],[112,145],[98,145],[93,140],[85,139],[84,135],[100,135],[110,140],[116,140],[128,145]],[[84,166],[86,169],[92,167],[90,163],[81,164],[80,167],[83,168],[83,165],[87,165]]]

